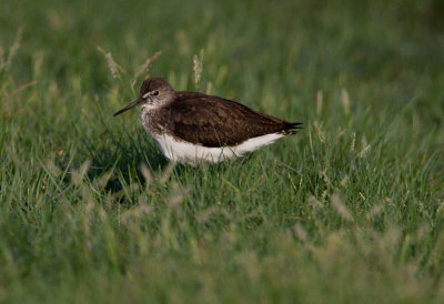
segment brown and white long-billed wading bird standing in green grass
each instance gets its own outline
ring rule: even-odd
[[[114,116],[138,105],[142,124],[162,154],[191,165],[240,158],[302,128],[233,100],[174,91],[163,78],[145,79],[139,98]]]

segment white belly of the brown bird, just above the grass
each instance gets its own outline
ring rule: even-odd
[[[192,164],[200,161],[216,163],[232,158],[239,158],[246,152],[252,152],[284,136],[280,133],[273,133],[246,140],[235,146],[206,148],[200,144],[176,141],[173,136],[167,134],[154,135],[150,133],[150,135],[155,140],[163,155],[168,159]]]

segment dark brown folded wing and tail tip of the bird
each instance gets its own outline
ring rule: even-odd
[[[201,93],[178,92],[169,108],[175,136],[210,148],[236,145],[248,139],[276,132],[294,134],[300,124]]]

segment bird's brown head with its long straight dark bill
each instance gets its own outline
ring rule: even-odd
[[[173,99],[174,90],[163,78],[148,78],[140,88],[139,98],[122,110],[117,111],[114,116],[138,105],[142,105],[144,109],[155,109]]]

